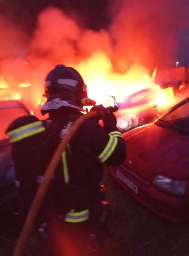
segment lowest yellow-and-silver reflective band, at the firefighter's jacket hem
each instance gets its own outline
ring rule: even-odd
[[[89,219],[88,209],[80,212],[74,212],[74,209],[72,209],[70,212],[66,214],[64,221],[76,223],[76,222],[87,221],[87,219]]]

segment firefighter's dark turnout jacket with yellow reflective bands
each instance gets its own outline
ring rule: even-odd
[[[73,110],[59,110],[48,120],[23,116],[7,129],[15,162],[19,204],[25,216],[38,185],[60,140],[80,116]],[[116,166],[126,157],[125,141],[116,126],[108,133],[97,121],[85,121],[73,136],[52,177],[38,221],[52,211],[68,222],[87,220],[93,204],[100,200],[102,163]]]

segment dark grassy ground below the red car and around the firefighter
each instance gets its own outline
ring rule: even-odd
[[[168,222],[134,201],[105,170],[103,181],[111,205],[105,256],[188,256],[189,224]],[[0,255],[11,256],[22,222],[10,213],[0,218]],[[36,234],[23,256],[38,256]]]

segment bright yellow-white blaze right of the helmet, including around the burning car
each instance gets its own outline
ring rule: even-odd
[[[166,109],[176,101],[172,87],[163,90],[154,83],[157,69],[152,76],[139,64],[133,65],[123,74],[113,72],[110,60],[102,52],[94,53],[90,59],[79,63],[76,69],[85,79],[88,97],[95,99],[97,104],[104,104],[107,95],[113,95],[122,106],[121,109],[124,110],[125,102],[125,112],[136,114],[139,110],[151,106]],[[129,96],[134,107],[130,105],[128,107],[126,104]]]

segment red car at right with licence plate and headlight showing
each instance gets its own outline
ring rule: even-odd
[[[189,221],[189,98],[123,138],[127,158],[111,169],[114,178],[161,217]]]

